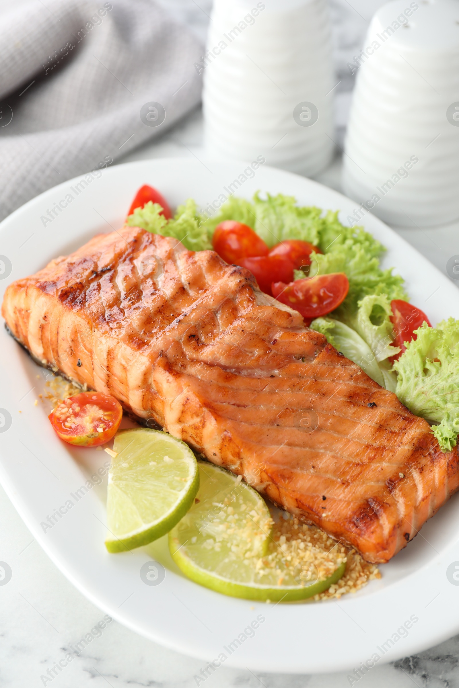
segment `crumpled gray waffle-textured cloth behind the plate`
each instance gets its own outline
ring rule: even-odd
[[[34,0],[2,20],[0,219],[200,102],[202,45],[153,0]]]

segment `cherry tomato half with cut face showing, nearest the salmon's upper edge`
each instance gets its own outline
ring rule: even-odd
[[[316,275],[295,282],[273,283],[273,297],[297,310],[303,318],[326,315],[343,303],[349,291],[349,280],[344,272]]]

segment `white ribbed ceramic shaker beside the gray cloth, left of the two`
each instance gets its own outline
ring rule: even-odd
[[[325,0],[215,0],[204,70],[209,158],[303,175],[330,162],[334,71]]]

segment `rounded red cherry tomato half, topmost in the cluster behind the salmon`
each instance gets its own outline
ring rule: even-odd
[[[252,228],[233,219],[226,219],[215,227],[212,245],[220,258],[230,265],[241,265],[242,258],[269,253],[268,246]]]

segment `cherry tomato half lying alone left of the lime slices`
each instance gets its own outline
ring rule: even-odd
[[[120,427],[122,407],[114,396],[83,391],[59,402],[48,418],[61,440],[98,447],[111,440]]]

